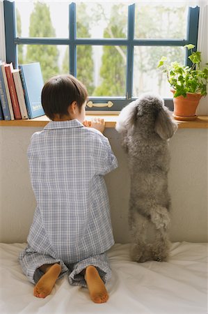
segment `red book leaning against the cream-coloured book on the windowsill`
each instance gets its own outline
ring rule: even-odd
[[[6,70],[6,77],[7,77],[7,81],[8,81],[8,88],[10,91],[10,98],[12,100],[12,104],[13,104],[13,112],[15,115],[15,119],[22,119],[20,110],[19,110],[19,103],[18,103],[18,99],[17,99],[17,92],[15,89],[15,83],[13,80],[13,75],[12,75],[12,71],[13,71],[13,63],[6,63],[5,64],[5,70]]]

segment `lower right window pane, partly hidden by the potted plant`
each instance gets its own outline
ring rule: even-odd
[[[166,73],[157,68],[162,56],[168,61],[184,64],[186,50],[184,47],[134,47],[134,86],[133,96],[153,92],[163,98],[173,98]]]

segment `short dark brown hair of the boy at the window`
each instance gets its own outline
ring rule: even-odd
[[[53,120],[55,114],[59,114],[60,117],[68,115],[68,107],[73,101],[77,102],[81,112],[81,106],[87,98],[86,87],[76,77],[57,75],[45,83],[42,89],[41,103],[47,117]]]

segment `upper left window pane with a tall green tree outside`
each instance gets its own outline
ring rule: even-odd
[[[69,3],[15,1],[18,37],[69,37]]]

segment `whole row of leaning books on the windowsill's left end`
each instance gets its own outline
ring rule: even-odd
[[[33,119],[44,115],[43,85],[39,62],[14,69],[13,63],[0,61],[0,120]]]

